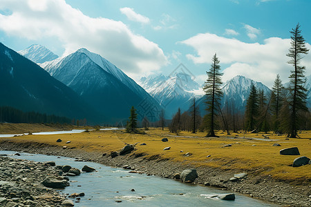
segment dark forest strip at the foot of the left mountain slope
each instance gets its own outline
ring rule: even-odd
[[[0,106],[0,122],[9,123],[59,123],[70,124],[71,120],[67,117],[46,115],[39,112],[23,112],[10,106]]]

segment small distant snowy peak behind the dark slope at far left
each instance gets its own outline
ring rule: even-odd
[[[23,57],[27,57],[35,63],[44,63],[58,58],[58,56],[48,50],[48,48],[37,44],[32,45],[25,50],[19,51],[19,54],[23,55]]]

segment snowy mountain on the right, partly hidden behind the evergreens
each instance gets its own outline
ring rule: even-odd
[[[263,90],[267,99],[270,97],[271,90],[267,88],[263,83],[253,81],[247,77],[237,75],[232,79],[229,79],[223,86],[223,99],[221,100],[222,108],[225,106],[233,106],[237,111],[244,111],[246,106],[246,100],[249,96],[250,86],[254,84],[257,90]],[[200,106],[201,115],[205,115],[205,97],[198,100]]]

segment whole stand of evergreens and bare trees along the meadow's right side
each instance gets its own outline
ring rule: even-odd
[[[212,57],[211,68],[207,72],[207,80],[203,86],[206,97],[207,115],[198,115],[195,103],[189,112],[180,113],[180,109],[173,117],[169,130],[179,132],[188,130],[196,132],[207,131],[206,137],[216,137],[214,130],[223,129],[233,132],[268,132],[286,133],[288,137],[298,136],[299,130],[311,128],[310,112],[307,108],[307,90],[305,89],[305,66],[301,66],[302,55],[308,54],[305,39],[301,35],[299,23],[290,31],[291,43],[287,56],[288,63],[293,67],[290,71],[290,83],[287,88],[282,84],[279,75],[276,76],[272,92],[265,95],[253,84],[250,86],[249,97],[245,112],[236,110],[234,103],[220,106],[223,93],[220,61],[215,53]]]

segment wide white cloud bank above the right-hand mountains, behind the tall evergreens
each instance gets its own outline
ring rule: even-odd
[[[223,81],[236,75],[243,75],[271,87],[276,74],[279,74],[285,83],[292,70],[292,66],[287,63],[289,57],[286,56],[290,48],[290,39],[271,37],[265,39],[263,44],[245,43],[205,33],[197,34],[182,43],[196,50],[196,55],[187,54],[187,58],[194,63],[211,63],[211,57],[217,52],[220,66],[222,64],[227,66],[222,67]],[[309,43],[307,47],[311,48]],[[301,64],[311,68],[311,55],[306,55]],[[310,70],[307,69],[305,75],[310,75]]]

